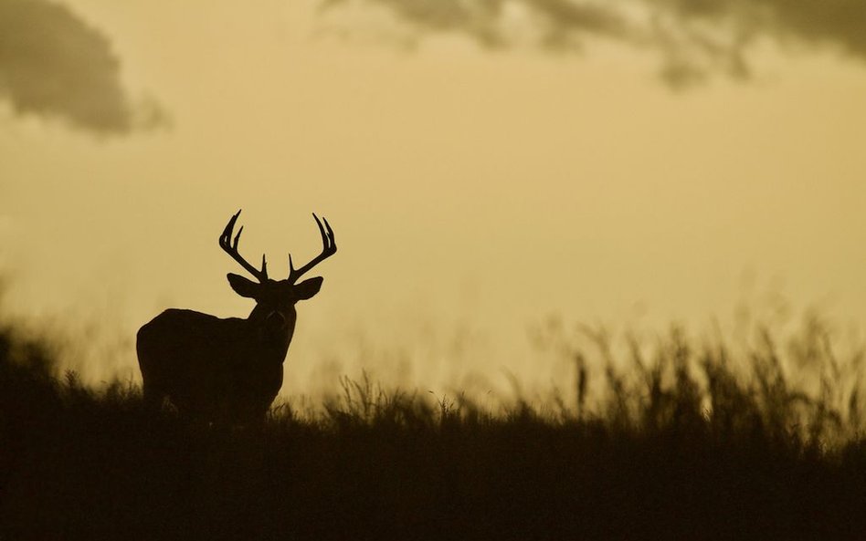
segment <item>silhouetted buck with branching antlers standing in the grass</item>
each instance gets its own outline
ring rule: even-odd
[[[312,217],[322,234],[322,253],[295,269],[289,255],[289,277],[268,277],[238,253],[243,226],[232,240],[240,211],[219,235],[219,247],[257,282],[232,273],[228,284],[241,297],[256,301],[249,317],[219,317],[170,308],[138,331],[136,350],[144,380],[144,401],[153,408],[168,399],[185,417],[207,421],[245,422],[264,417],[282,386],[282,365],[295,330],[295,303],[319,292],[322,277],[298,279],[334,255],[328,221]],[[322,224],[322,222],[324,224]]]

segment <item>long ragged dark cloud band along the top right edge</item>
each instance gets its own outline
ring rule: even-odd
[[[417,36],[459,33],[482,47],[522,43],[514,18],[545,50],[580,50],[593,39],[626,43],[654,51],[672,86],[717,72],[748,78],[748,55],[761,39],[866,61],[864,0],[322,0],[325,11],[348,5],[384,7]]]

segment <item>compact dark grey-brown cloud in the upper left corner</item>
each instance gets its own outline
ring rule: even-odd
[[[155,103],[132,103],[120,72],[108,37],[68,7],[0,0],[0,99],[16,114],[105,135],[163,123]]]

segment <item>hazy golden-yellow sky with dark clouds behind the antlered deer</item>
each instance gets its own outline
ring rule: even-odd
[[[552,318],[698,331],[784,299],[861,329],[864,12],[0,0],[6,309],[78,336],[85,377],[137,378],[164,308],[251,310],[216,243],[243,209],[271,276],[320,250],[311,213],[336,234],[287,393],[550,384]]]

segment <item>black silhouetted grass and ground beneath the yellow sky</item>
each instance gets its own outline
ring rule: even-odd
[[[347,379],[238,427],[85,387],[2,328],[0,539],[863,538],[861,350],[839,359],[816,319],[755,336],[623,358],[596,335],[569,350],[573,401]]]

